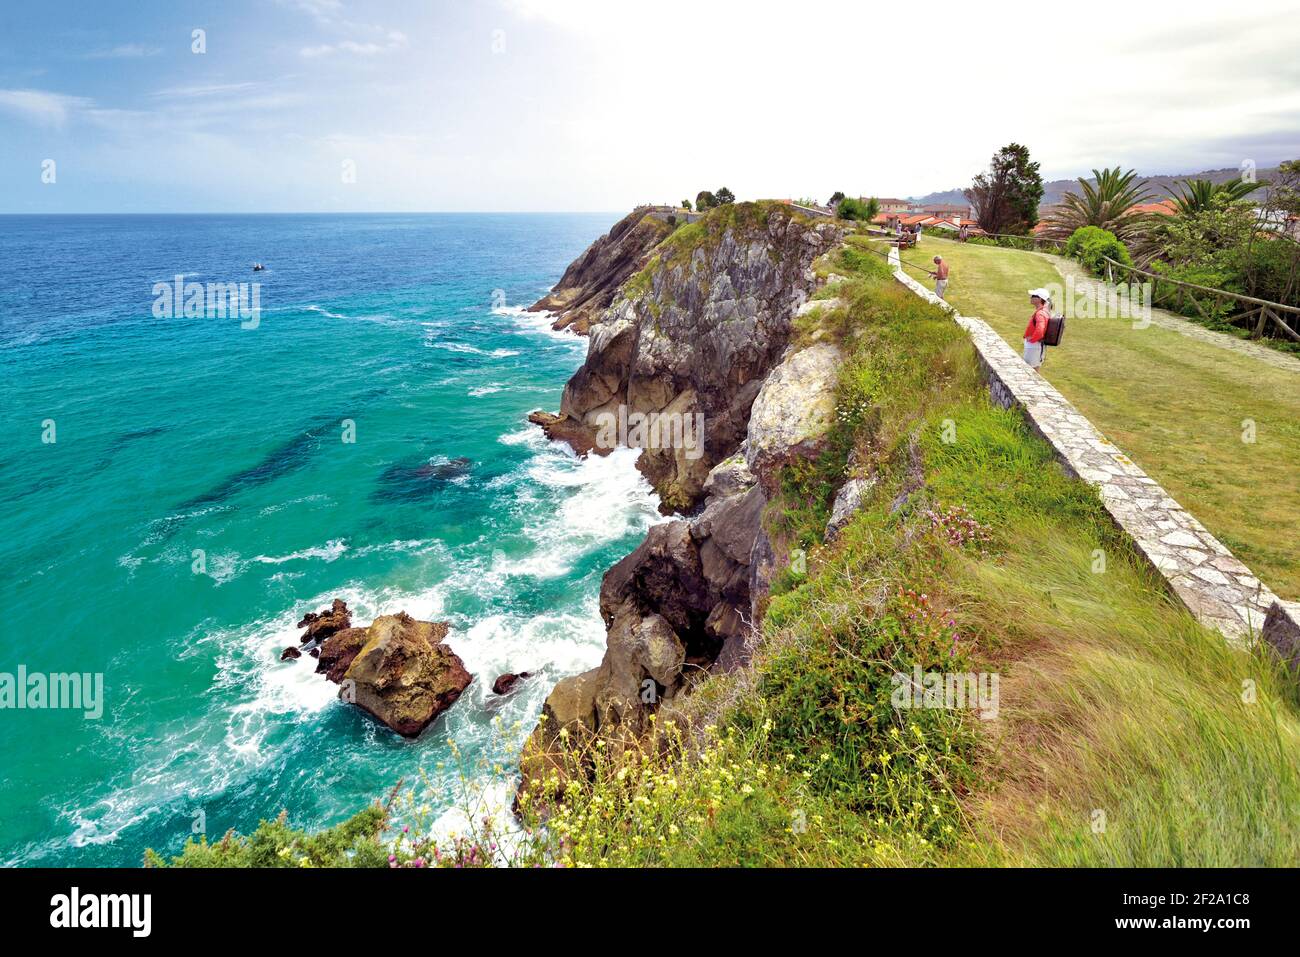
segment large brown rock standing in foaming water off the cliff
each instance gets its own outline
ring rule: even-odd
[[[446,622],[419,622],[404,611],[369,628],[347,628],[321,645],[317,671],[337,681],[339,697],[399,735],[415,737],[451,707],[472,680],[442,644]]]

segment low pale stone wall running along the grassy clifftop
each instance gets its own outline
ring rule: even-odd
[[[1273,594],[1154,478],[1026,365],[992,326],[958,315],[907,276],[897,248],[890,250],[889,263],[898,282],[948,311],[967,332],[993,400],[1005,408],[1022,408],[1066,471],[1097,486],[1106,511],[1200,622],[1234,642],[1253,641],[1261,632],[1279,650],[1287,646],[1287,636],[1295,642],[1294,636],[1300,635],[1300,603],[1283,602]]]

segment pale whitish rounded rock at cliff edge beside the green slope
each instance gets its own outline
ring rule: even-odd
[[[820,451],[835,417],[841,360],[837,346],[818,342],[786,355],[763,382],[749,417],[746,464],[768,493],[781,465]]]

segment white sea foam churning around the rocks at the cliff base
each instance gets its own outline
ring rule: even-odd
[[[540,324],[533,326],[540,328]],[[581,345],[581,339],[567,333],[556,335]],[[556,680],[599,662],[604,627],[598,610],[597,576],[584,579],[580,594],[540,614],[517,607],[521,585],[529,579],[564,575],[577,567],[584,555],[663,519],[653,490],[634,468],[637,450],[620,449],[608,456],[578,459],[564,446],[547,442],[533,426],[512,430],[499,441],[529,451],[519,469],[493,482],[500,497],[498,512],[520,520],[517,533],[508,542],[498,547],[489,537],[448,550],[429,538],[359,547],[348,554],[350,559],[380,550],[439,554],[441,558],[429,564],[442,577],[419,589],[359,584],[330,588],[300,596],[281,614],[240,627],[196,625],[192,635],[177,642],[176,655],[179,659],[211,655],[213,680],[207,694],[208,713],[169,729],[160,728],[156,737],[143,745],[133,742],[130,784],[66,809],[65,818],[73,826],[68,840],[77,846],[113,841],[126,828],[174,806],[178,797],[190,796],[199,802],[238,788],[259,770],[283,762],[287,749],[311,726],[312,715],[344,707],[337,700],[338,688],[315,674],[311,658],[278,661],[283,648],[298,645],[300,629],[296,623],[302,612],[326,607],[335,597],[348,603],[358,623],[396,611],[426,620],[451,620],[447,641],[474,675],[474,683],[439,719],[441,728],[416,742],[417,748],[426,749],[416,753],[441,754],[443,736],[462,742],[463,749],[467,742],[471,748],[486,749],[494,733],[490,724],[494,716],[526,729]],[[198,510],[202,511],[208,510]],[[347,545],[335,540],[286,555],[257,555],[244,564],[333,562],[346,551]],[[213,577],[233,573],[230,570],[238,567],[238,555],[216,559],[209,555],[208,568]],[[277,572],[274,580],[291,585],[287,572]],[[448,614],[448,609],[465,606],[467,599],[468,605],[488,611],[464,616]],[[490,685],[506,671],[529,671],[536,677],[502,698],[491,694]],[[105,728],[105,733],[112,729]],[[507,780],[498,778],[484,787],[490,792],[485,793],[488,804],[495,801],[499,809],[508,807]],[[446,810],[438,827],[452,828],[458,820],[463,823],[458,814],[459,810]],[[510,827],[508,820],[500,824]]]

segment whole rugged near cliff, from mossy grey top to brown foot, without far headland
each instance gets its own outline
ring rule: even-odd
[[[641,735],[693,676],[749,662],[785,558],[764,531],[764,506],[785,463],[818,454],[833,412],[838,350],[793,347],[790,334],[815,287],[812,260],[840,239],[835,224],[776,204],[718,209],[660,242],[590,322],[560,413],[540,416],[547,434],[601,451],[611,445],[602,423],[634,413],[701,415],[703,434],[698,454],[642,446],[638,468],[663,511],[692,518],[651,528],[606,572],[604,659],[547,698],[524,750],[525,787],[563,772],[562,732],[568,746]]]

